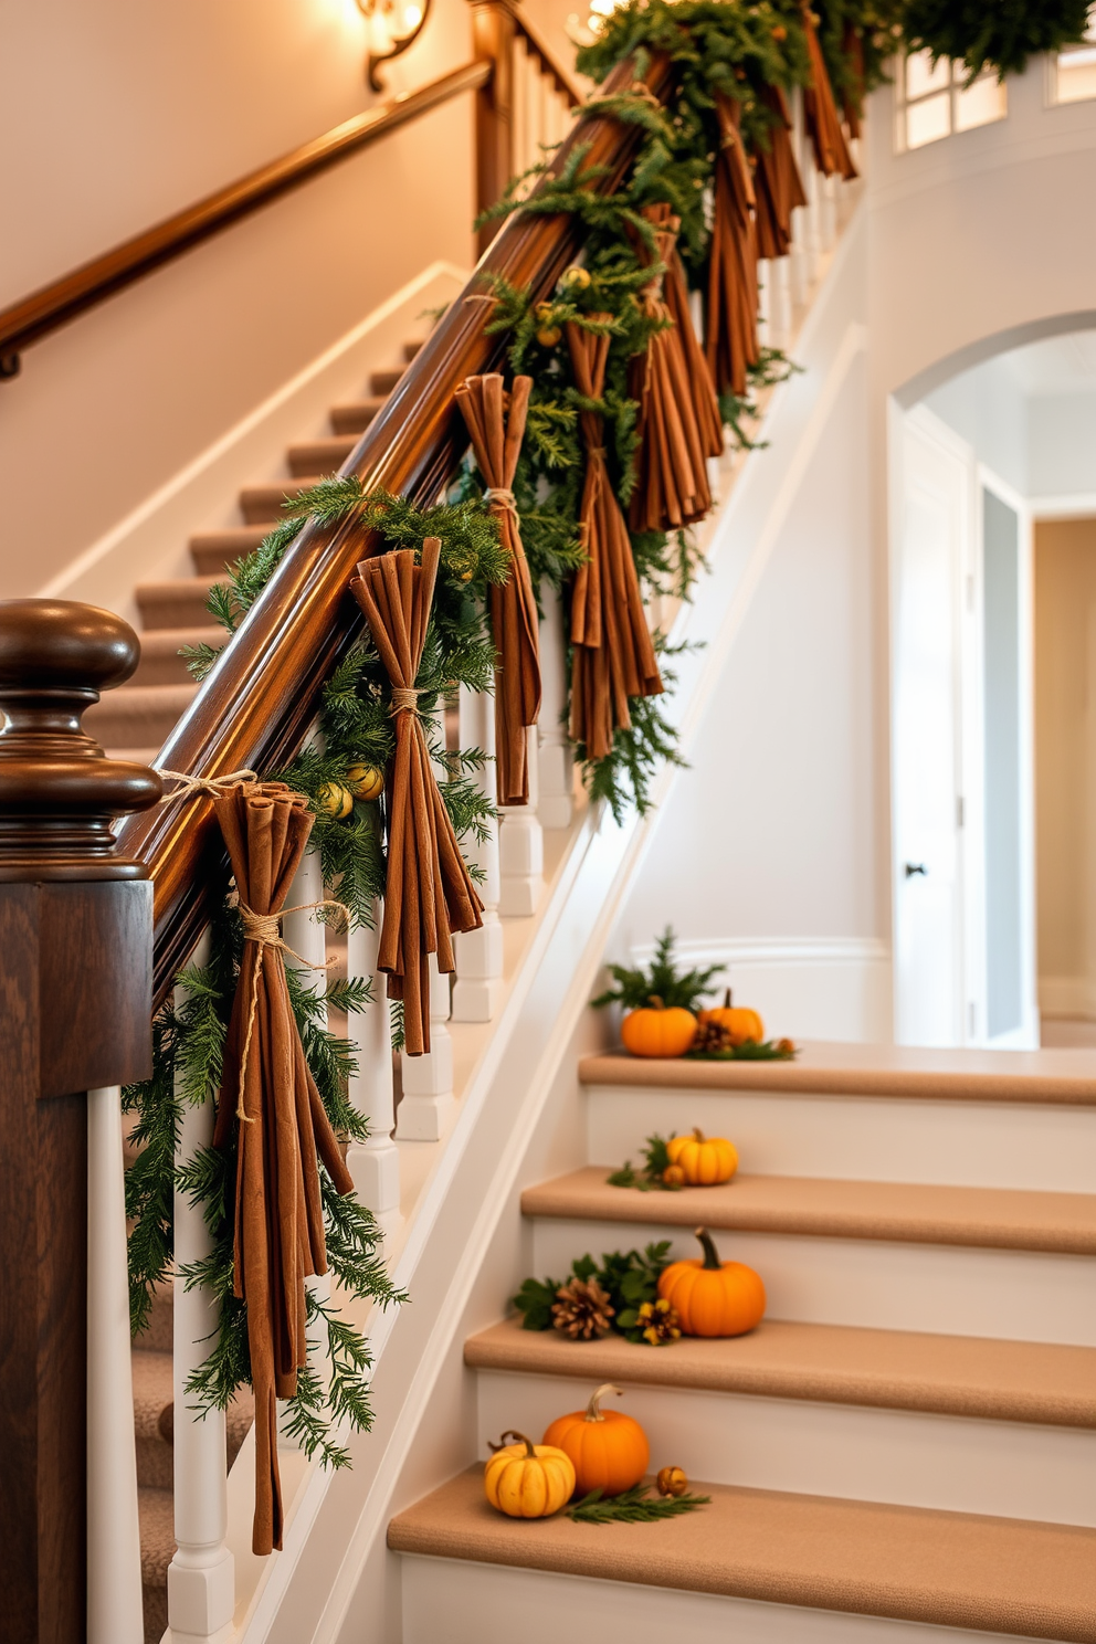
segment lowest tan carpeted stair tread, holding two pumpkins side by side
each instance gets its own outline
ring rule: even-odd
[[[1093,1644],[1096,1532],[769,1489],[693,1485],[657,1524],[508,1519],[483,1468],[388,1527],[396,1552]]]

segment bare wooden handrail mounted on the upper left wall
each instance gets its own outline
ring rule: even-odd
[[[481,90],[495,72],[495,64],[486,58],[477,58],[442,74],[429,85],[416,92],[401,92],[380,109],[353,115],[342,125],[317,136],[312,143],[302,143],[291,155],[260,166],[238,182],[230,182],[225,189],[217,189],[196,206],[176,212],[164,222],[146,229],[145,233],[125,240],[112,252],[92,258],[82,268],[74,270],[62,279],[43,286],[21,302],[0,311],[0,378],[15,376],[18,372],[20,352],[31,342],[38,342],[49,332],[67,326],[79,314],[104,302],[117,291],[131,286],[135,279],[181,256],[202,240],[212,238],[230,224],[261,210],[281,194],[299,187],[329,166],[357,155],[381,136],[417,120],[458,97],[462,92]],[[555,72],[554,69],[550,72]]]

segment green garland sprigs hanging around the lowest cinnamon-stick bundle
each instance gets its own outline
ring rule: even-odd
[[[199,1409],[227,1409],[240,1388],[251,1381],[246,1305],[233,1295],[233,1195],[237,1180],[235,1138],[225,1149],[202,1148],[181,1169],[174,1167],[184,1110],[217,1098],[228,1013],[240,967],[238,916],[225,907],[210,924],[210,957],[179,977],[186,1000],[168,1004],[153,1026],[153,1077],[123,1092],[123,1111],[136,1115],[133,1141],[141,1146],[127,1172],[130,1233],[130,1322],[135,1333],[148,1323],[153,1292],[173,1271],[174,1190],[200,1205],[210,1233],[209,1256],[181,1268],[187,1289],[205,1286],[219,1312],[205,1361],[187,1383]],[[368,1134],[361,1115],[347,1100],[347,1078],[355,1069],[348,1041],[325,1026],[325,1013],[360,1009],[370,996],[363,978],[332,981],[322,991],[306,986],[286,967],[289,998],[301,1031],[306,1060],[335,1131],[347,1141]],[[406,1300],[378,1254],[380,1230],[370,1210],[353,1195],[335,1192],[320,1166],[320,1198],[327,1259],[338,1289],[357,1304],[388,1307]],[[337,1302],[307,1297],[309,1332],[324,1342],[322,1361],[311,1353],[297,1376],[296,1397],[286,1401],[286,1430],[325,1466],[350,1460],[347,1429],[366,1432],[370,1407],[370,1350],[361,1332]]]

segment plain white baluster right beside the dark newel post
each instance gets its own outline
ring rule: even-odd
[[[143,1644],[122,1092],[87,1092],[87,1644]]]

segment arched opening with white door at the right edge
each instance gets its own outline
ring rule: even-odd
[[[1096,314],[937,362],[891,434],[896,1037],[1096,1044]]]

